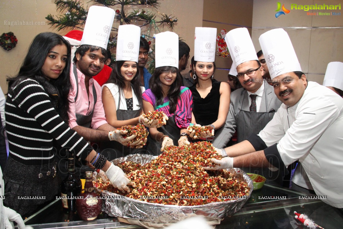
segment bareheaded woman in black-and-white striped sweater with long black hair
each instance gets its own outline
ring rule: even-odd
[[[126,185],[131,184],[121,169],[69,128],[69,71],[69,43],[58,34],[45,32],[34,38],[18,75],[7,80],[9,158],[4,171],[4,204],[21,215],[59,195],[54,144],[86,160],[90,167],[104,170],[114,186],[128,190]]]

